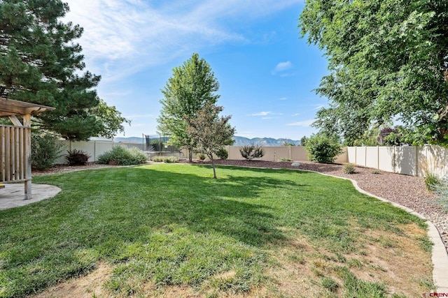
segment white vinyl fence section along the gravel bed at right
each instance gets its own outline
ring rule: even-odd
[[[385,172],[448,175],[448,149],[439,146],[347,147],[347,154],[349,163]]]

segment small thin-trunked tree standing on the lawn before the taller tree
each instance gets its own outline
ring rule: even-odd
[[[216,170],[214,156],[224,145],[233,144],[235,128],[230,126],[232,116],[218,117],[223,107],[207,103],[197,112],[196,117],[185,117],[188,136],[195,142],[196,150],[210,158],[214,179]]]

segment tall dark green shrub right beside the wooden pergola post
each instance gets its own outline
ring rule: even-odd
[[[57,142],[57,137],[48,133],[31,135],[31,166],[38,170],[48,169],[62,156],[63,146]]]

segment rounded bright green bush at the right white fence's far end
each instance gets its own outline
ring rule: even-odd
[[[305,144],[309,161],[314,163],[334,163],[336,156],[342,154],[337,140],[325,135],[311,135]]]

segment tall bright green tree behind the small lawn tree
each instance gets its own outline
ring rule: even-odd
[[[187,133],[186,119],[196,117],[206,104],[214,104],[220,97],[218,80],[210,65],[199,54],[193,54],[181,66],[173,69],[160,100],[162,110],[158,117],[158,130],[169,135],[169,142],[178,147],[185,147],[192,152],[195,140]]]

